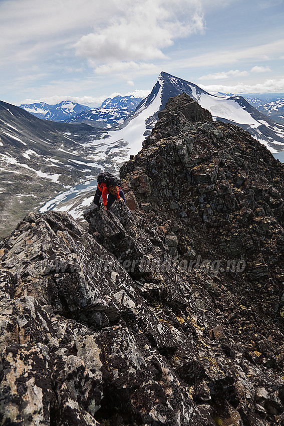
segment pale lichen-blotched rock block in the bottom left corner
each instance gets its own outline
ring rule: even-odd
[[[53,398],[48,348],[37,343],[7,345],[2,352],[1,424],[50,424]]]

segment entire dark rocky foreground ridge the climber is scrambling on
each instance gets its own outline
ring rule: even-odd
[[[120,174],[0,245],[0,424],[283,425],[283,165],[182,94]]]

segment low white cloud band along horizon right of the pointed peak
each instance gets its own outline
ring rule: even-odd
[[[209,93],[267,93],[267,92],[284,92],[284,78],[279,80],[269,79],[265,80],[263,83],[258,83],[254,85],[238,83],[234,86],[225,86],[223,84],[209,85],[204,86],[203,84],[199,85],[202,89],[206,90]]]

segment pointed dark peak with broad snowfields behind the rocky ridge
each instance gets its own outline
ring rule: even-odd
[[[221,120],[242,127],[272,153],[284,149],[284,126],[261,114],[243,97],[211,95],[196,84],[165,72],[161,72],[151,93],[140,102],[133,116],[125,121],[124,127],[109,132],[111,141],[124,140],[128,143],[129,154],[136,154],[158,121],[158,112],[165,108],[170,97],[182,93],[207,109],[214,121]]]

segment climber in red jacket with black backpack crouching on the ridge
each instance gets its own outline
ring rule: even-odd
[[[100,173],[98,176],[98,187],[93,202],[100,208],[100,198],[103,197],[104,209],[109,210],[117,198],[118,201],[126,202],[125,195],[118,179],[108,172]]]

